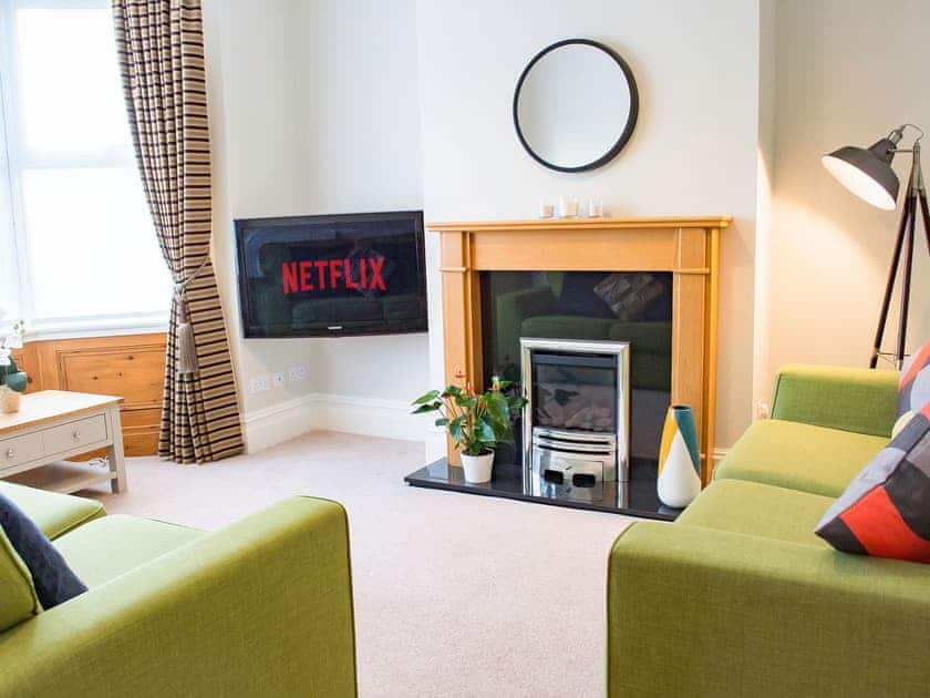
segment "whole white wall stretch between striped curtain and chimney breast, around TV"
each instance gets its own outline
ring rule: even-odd
[[[379,410],[400,425],[424,390],[426,336],[242,339],[232,220],[421,207],[414,2],[204,10],[215,258],[249,446],[313,425],[355,429]],[[299,363],[307,381],[249,394],[250,377]]]

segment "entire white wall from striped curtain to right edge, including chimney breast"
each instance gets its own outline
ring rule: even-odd
[[[231,219],[246,216],[424,207],[427,220],[531,217],[540,197],[561,195],[602,198],[616,215],[732,214],[717,443],[742,432],[779,363],[865,363],[897,213],[851,197],[818,158],[903,121],[930,125],[930,91],[919,89],[930,4],[204,4],[216,257],[239,378],[293,363],[311,370],[306,383],[244,394],[247,419],[283,420],[285,432],[314,415],[317,425],[358,427],[375,406],[380,417],[359,428],[397,433],[410,423],[403,404],[441,383],[443,369],[432,235],[428,338],[240,339]],[[537,165],[510,122],[521,69],[567,37],[617,49],[641,94],[623,153],[580,175]],[[906,160],[896,161],[902,176]],[[911,347],[930,335],[924,249],[918,240]],[[432,445],[444,449],[441,439]]]

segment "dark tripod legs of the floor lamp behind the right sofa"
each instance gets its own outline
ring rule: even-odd
[[[891,256],[891,268],[888,270],[888,284],[885,287],[885,299],[881,302],[881,312],[878,316],[878,329],[875,333],[872,356],[869,368],[875,368],[878,358],[882,356],[881,340],[885,337],[885,326],[888,324],[888,309],[891,305],[891,294],[895,290],[895,281],[898,278],[898,267],[903,266],[903,279],[901,284],[901,314],[898,318],[898,342],[893,355],[886,355],[893,358],[895,367],[900,371],[905,362],[905,342],[908,335],[908,309],[910,307],[910,281],[913,269],[913,235],[918,212],[923,219],[923,233],[927,236],[927,252],[930,253],[930,206],[927,204],[927,189],[923,186],[923,173],[920,170],[920,141],[918,140],[909,151],[913,155],[910,178],[908,181],[908,193],[905,196],[905,207],[901,213],[901,223],[898,227],[898,238],[895,240],[895,252]],[[901,253],[905,254],[901,264]]]

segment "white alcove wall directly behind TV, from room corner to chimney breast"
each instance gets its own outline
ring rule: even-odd
[[[317,201],[304,213],[422,208],[415,2],[299,7],[299,186]],[[426,390],[425,333],[314,343],[322,392],[410,402]]]

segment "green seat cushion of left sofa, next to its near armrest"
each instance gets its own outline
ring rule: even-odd
[[[200,537],[185,526],[115,514],[92,521],[55,541],[55,547],[90,588]]]

